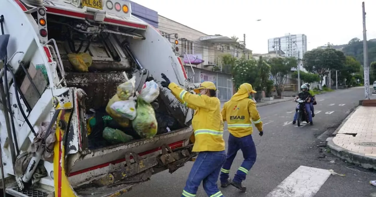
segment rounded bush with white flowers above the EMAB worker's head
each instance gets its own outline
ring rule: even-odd
[[[255,84],[259,81],[258,75],[258,60],[253,58],[249,60],[245,58],[238,59],[234,69],[232,69],[232,77],[236,89],[243,83]]]

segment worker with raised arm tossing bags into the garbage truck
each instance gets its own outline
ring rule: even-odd
[[[174,96],[186,106],[195,110],[192,119],[194,135],[193,152],[198,152],[191,172],[183,189],[182,197],[195,197],[201,182],[210,197],[223,197],[218,189],[217,180],[221,167],[226,160],[223,140],[223,121],[220,101],[215,97],[215,84],[205,81],[191,94],[175,83],[170,83],[166,75],[162,87],[171,90]]]

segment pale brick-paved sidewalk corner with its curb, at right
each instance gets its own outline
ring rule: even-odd
[[[376,107],[359,106],[327,138],[331,153],[347,162],[376,169]]]

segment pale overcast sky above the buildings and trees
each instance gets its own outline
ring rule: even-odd
[[[245,33],[253,53],[267,53],[267,40],[285,33],[305,34],[308,50],[362,40],[363,1],[367,40],[374,39],[376,0],[133,0],[208,35],[243,39]]]

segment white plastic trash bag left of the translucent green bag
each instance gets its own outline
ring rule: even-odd
[[[136,118],[136,102],[134,100],[117,101],[111,105],[111,109],[114,110],[121,117],[125,117],[129,120]]]

